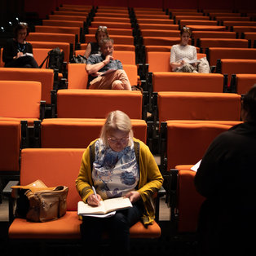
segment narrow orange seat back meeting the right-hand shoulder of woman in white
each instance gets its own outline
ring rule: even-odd
[[[233,38],[200,38],[199,45],[197,46],[204,50],[206,47],[248,48],[248,40]]]

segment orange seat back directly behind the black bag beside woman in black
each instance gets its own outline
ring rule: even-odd
[[[70,55],[70,44],[68,42],[41,42],[41,41],[29,41],[32,46],[33,50],[35,48],[47,48],[47,49],[54,49],[55,47],[60,47],[61,50],[64,51],[64,61],[69,61]]]

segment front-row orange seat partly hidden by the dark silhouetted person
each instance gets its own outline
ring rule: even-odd
[[[178,173],[178,232],[196,232],[198,214],[205,197],[196,192],[195,174],[192,170],[179,170]]]

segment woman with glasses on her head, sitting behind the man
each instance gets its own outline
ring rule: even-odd
[[[107,27],[99,26],[99,28],[96,30],[95,38],[96,42],[89,42],[86,46],[86,53],[84,55],[86,59],[89,57],[89,55],[100,54],[99,42],[101,42],[101,40],[104,38],[109,38]]]

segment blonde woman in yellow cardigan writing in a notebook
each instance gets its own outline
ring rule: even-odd
[[[118,110],[109,113],[100,138],[90,143],[82,156],[77,191],[88,205],[97,206],[100,200],[126,196],[133,207],[118,210],[110,218],[83,217],[83,244],[99,254],[102,232],[107,230],[110,254],[129,255],[130,227],[139,220],[145,225],[152,223],[152,195],[162,183],[148,146],[133,137],[130,118]]]

